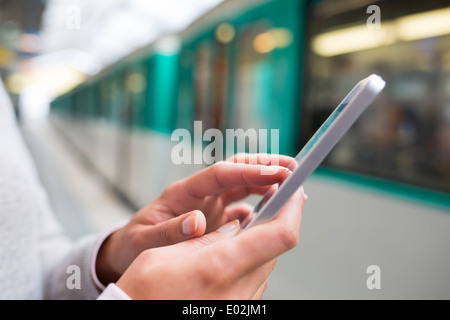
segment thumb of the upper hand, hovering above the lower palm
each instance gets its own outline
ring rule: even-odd
[[[205,216],[201,211],[194,210],[156,225],[145,226],[142,237],[147,248],[156,248],[200,237],[205,230]]]

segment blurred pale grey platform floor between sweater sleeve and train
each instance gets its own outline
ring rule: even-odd
[[[53,211],[71,238],[131,217],[132,209],[48,120],[21,129]]]

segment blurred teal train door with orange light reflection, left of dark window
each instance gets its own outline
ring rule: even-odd
[[[227,120],[232,128],[267,130],[260,152],[298,152],[299,8],[299,1],[271,1],[233,21]]]

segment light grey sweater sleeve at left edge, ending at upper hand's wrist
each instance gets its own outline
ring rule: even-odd
[[[56,220],[0,81],[0,297],[96,299],[99,235],[72,242]]]

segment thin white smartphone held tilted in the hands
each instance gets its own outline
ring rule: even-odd
[[[255,206],[249,217],[250,222],[247,220],[243,223],[245,229],[267,222],[277,215],[385,85],[384,80],[376,74],[356,84],[288,166],[292,173],[286,180],[273,186]]]

